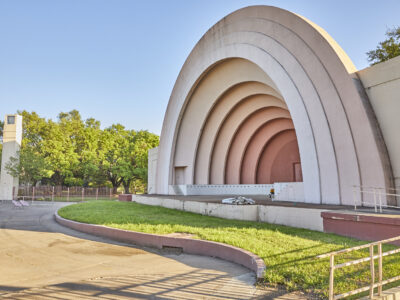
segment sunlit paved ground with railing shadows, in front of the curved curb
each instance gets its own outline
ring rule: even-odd
[[[53,218],[64,205],[0,204],[1,299],[300,298],[256,289],[253,273],[223,260],[138,248],[65,228]]]

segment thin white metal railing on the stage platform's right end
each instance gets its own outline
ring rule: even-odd
[[[400,200],[400,194],[396,191],[399,191],[400,188],[379,188],[379,187],[364,187],[364,186],[353,186],[353,203],[354,210],[357,210],[358,206],[369,206],[374,207],[375,212],[382,213],[383,208],[394,208],[400,209],[400,206],[397,205],[388,205],[384,203],[383,197],[394,197],[395,202],[398,203],[398,199]],[[365,200],[365,196],[371,196],[368,198],[372,198],[370,200]],[[386,201],[385,201],[386,202]],[[358,204],[359,203],[359,204]]]

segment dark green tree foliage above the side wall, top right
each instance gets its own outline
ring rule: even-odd
[[[380,42],[375,50],[367,52],[371,65],[387,61],[400,55],[400,26],[386,31],[387,39]]]

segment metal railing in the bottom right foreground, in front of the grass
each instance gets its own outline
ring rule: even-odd
[[[388,256],[388,255],[392,255],[395,253],[399,253],[400,252],[400,248],[391,250],[391,251],[387,251],[387,252],[382,252],[382,244],[386,244],[386,243],[391,243],[394,241],[398,241],[400,240],[400,236],[394,237],[394,238],[390,238],[390,239],[386,239],[386,240],[382,240],[382,241],[378,241],[378,242],[373,242],[373,243],[369,243],[369,244],[365,244],[362,246],[357,246],[357,247],[352,247],[352,248],[347,248],[347,249],[343,249],[343,250],[339,250],[339,251],[335,251],[335,252],[330,252],[330,253],[326,253],[326,254],[322,254],[317,256],[317,258],[326,258],[329,257],[329,265],[330,265],[330,271],[329,271],[329,300],[334,300],[334,299],[342,299],[344,297],[348,297],[351,295],[355,295],[355,294],[359,294],[365,291],[369,290],[369,298],[373,299],[374,297],[374,289],[378,288],[378,295],[381,296],[382,295],[382,286],[397,280],[400,280],[400,276],[395,276],[386,280],[383,280],[383,269],[382,269],[382,265],[383,265],[383,257],[384,256]],[[378,254],[375,255],[374,254],[374,247],[377,246],[378,247]],[[356,250],[360,250],[360,249],[365,249],[365,248],[369,248],[369,257],[365,257],[365,258],[360,258],[360,259],[356,259],[356,260],[352,260],[349,262],[345,262],[345,263],[341,263],[341,264],[337,264],[335,265],[335,255],[339,255],[339,254],[343,254],[343,253],[348,253],[348,252],[352,252],[352,251],[356,251]],[[378,259],[378,282],[375,283],[375,259]],[[366,287],[361,287],[359,289],[355,289],[346,293],[342,293],[340,295],[335,295],[334,294],[334,283],[335,283],[335,270],[336,269],[340,269],[343,267],[347,267],[347,266],[352,266],[352,265],[356,265],[356,264],[360,264],[363,262],[370,262],[370,272],[371,272],[371,284],[369,286]]]

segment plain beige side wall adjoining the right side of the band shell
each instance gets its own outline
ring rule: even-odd
[[[378,119],[400,189],[400,56],[357,72]]]

